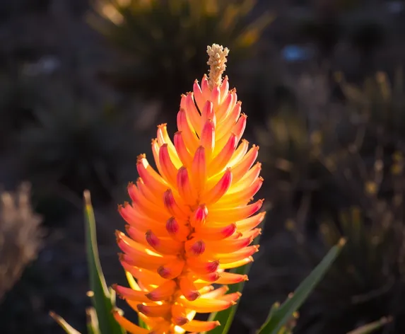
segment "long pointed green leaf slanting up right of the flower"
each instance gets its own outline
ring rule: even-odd
[[[346,240],[341,238],[339,243],[329,250],[310,275],[301,282],[294,294],[288,296],[288,299],[278,309],[272,309],[273,311],[269,313],[266,322],[257,332],[258,334],[278,334],[278,331],[290,320],[293,313],[300,308],[319,281],[322,280],[322,277],[324,277],[337,255],[339,255],[345,243]]]

